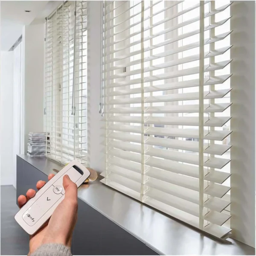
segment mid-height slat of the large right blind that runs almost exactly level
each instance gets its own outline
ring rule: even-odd
[[[209,127],[222,127],[231,119],[231,116],[220,116],[220,117],[204,117],[204,126]],[[121,123],[141,123],[140,116],[110,116],[103,119],[104,122],[121,122]],[[145,125],[189,125],[199,126],[198,117],[190,116],[145,116],[143,123]]]

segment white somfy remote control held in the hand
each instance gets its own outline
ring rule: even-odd
[[[34,234],[51,217],[64,199],[63,176],[68,175],[79,187],[90,172],[77,160],[73,160],[31,198],[17,214],[15,220],[29,235]]]

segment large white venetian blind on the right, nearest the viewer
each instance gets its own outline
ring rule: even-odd
[[[105,1],[102,183],[224,238],[229,1]]]

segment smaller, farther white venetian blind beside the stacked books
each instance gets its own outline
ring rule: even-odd
[[[47,157],[87,163],[87,2],[66,1],[46,19]]]

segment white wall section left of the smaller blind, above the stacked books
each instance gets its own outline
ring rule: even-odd
[[[28,134],[44,130],[44,23],[23,27],[24,151]]]

